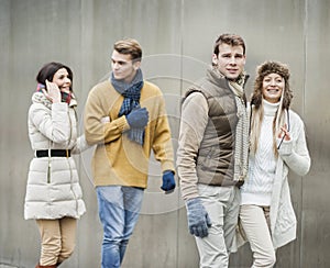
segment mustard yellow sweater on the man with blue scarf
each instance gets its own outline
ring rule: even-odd
[[[160,88],[144,81],[141,108],[148,111],[143,146],[130,141],[124,132],[130,129],[127,118],[118,118],[123,97],[109,80],[89,92],[85,115],[85,135],[89,145],[97,144],[92,157],[95,186],[147,187],[148,159],[153,149],[162,170],[174,169],[174,155],[165,101]],[[109,122],[103,118],[109,116]]]

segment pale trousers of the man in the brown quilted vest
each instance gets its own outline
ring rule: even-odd
[[[200,268],[228,268],[239,217],[240,190],[237,187],[199,185],[198,193],[212,223],[207,237],[195,237]]]

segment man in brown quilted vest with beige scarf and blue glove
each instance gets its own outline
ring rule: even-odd
[[[207,76],[185,94],[178,176],[200,267],[228,267],[248,168],[249,120],[243,86],[245,44],[221,35]]]

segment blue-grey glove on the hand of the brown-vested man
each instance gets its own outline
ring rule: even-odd
[[[208,236],[208,228],[212,223],[199,198],[188,200],[186,205],[190,234],[197,237]]]

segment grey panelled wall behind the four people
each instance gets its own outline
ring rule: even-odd
[[[293,108],[306,123],[312,167],[304,178],[290,175],[297,239],[277,252],[277,267],[329,267],[329,18],[328,0],[0,0],[0,267],[34,267],[40,255],[37,228],[23,220],[23,201],[33,156],[26,112],[41,66],[57,60],[73,68],[81,124],[88,91],[109,76],[113,42],[138,38],[144,76],[166,98],[176,147],[179,96],[204,75],[212,44],[224,32],[246,42],[248,92],[257,64],[276,59],[289,65]],[[91,153],[77,158],[88,212],[79,221],[76,252],[63,268],[100,267],[102,230]],[[123,267],[198,267],[179,191],[165,196],[160,186],[160,167],[152,161]],[[248,246],[231,256],[230,267],[250,265]]]

